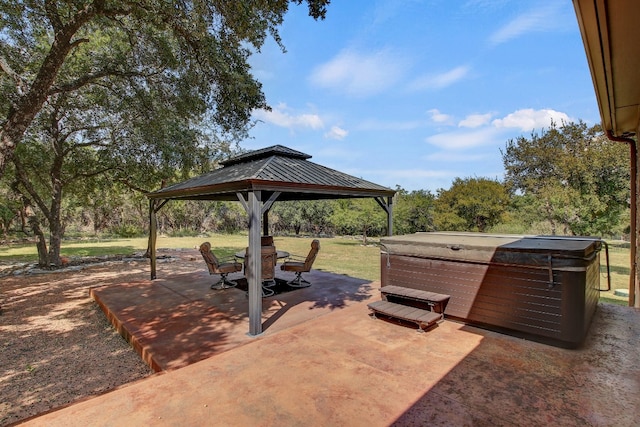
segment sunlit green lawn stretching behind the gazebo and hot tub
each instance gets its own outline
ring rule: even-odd
[[[247,246],[246,234],[221,235],[212,234],[206,237],[158,237],[156,247],[195,249],[204,242],[211,246],[219,256],[229,256],[243,251]],[[291,254],[305,256],[310,249],[312,237],[279,237],[274,238],[277,248]],[[358,239],[350,237],[321,238],[320,254],[314,268],[337,274],[376,281],[380,280],[380,249],[377,246],[363,246]],[[64,242],[61,248],[63,256],[103,256],[131,255],[147,248],[147,238],[117,240],[81,240]],[[33,262],[37,260],[36,247],[33,243],[11,245],[0,249],[0,262]],[[611,242],[609,244],[609,262],[611,272],[611,290],[601,292],[600,299],[612,304],[627,305],[628,298],[614,294],[616,289],[629,287],[628,243]],[[607,286],[604,249],[600,256],[600,287]]]

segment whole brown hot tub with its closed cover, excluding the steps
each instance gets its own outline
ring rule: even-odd
[[[568,348],[589,329],[598,238],[416,233],[381,243],[382,286],[450,295],[447,318]]]

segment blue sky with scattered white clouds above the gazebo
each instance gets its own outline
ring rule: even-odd
[[[390,188],[502,179],[509,139],[600,121],[569,0],[333,0],[291,6],[282,53],[251,59],[272,111],[242,148],[281,144]]]

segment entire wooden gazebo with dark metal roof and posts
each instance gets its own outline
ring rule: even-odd
[[[373,198],[387,213],[387,234],[392,234],[394,190],[313,163],[310,158],[274,145],[230,158],[210,173],[148,193],[151,279],[156,278],[156,214],[169,200],[239,201],[249,217],[249,335],[255,336],[262,333],[260,230],[268,234],[268,214],[274,202]]]

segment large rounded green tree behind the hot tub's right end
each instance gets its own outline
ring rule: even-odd
[[[502,152],[506,184],[530,196],[552,233],[608,234],[629,204],[629,149],[608,140],[599,125],[552,124]]]

